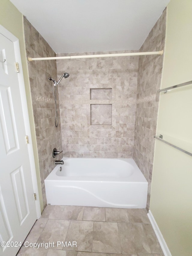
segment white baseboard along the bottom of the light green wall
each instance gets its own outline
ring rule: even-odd
[[[150,220],[150,222],[152,224],[152,227],[153,227],[153,229],[155,231],[157,239],[158,239],[158,241],[159,241],[159,243],[161,245],[161,249],[162,249],[164,255],[165,256],[172,256],[171,253],[170,253],[170,250],[169,250],[169,248],[168,248],[168,246],[167,246],[167,244],[166,244],[166,242],[165,242],[165,240],[164,240],[164,238],[163,238],[163,236],[161,234],[161,231],[160,231],[160,229],[158,227],[158,224],[155,221],[155,219],[154,219],[154,217],[152,215],[152,212],[150,210],[149,210],[149,213],[147,215],[148,215],[149,220]]]

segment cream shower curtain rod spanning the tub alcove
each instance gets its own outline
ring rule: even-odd
[[[111,54],[95,54],[95,55],[76,55],[63,57],[44,57],[44,58],[28,58],[29,61],[34,60],[49,60],[49,59],[84,59],[84,58],[102,58],[102,57],[119,57],[119,56],[141,56],[141,55],[162,55],[162,51],[144,52],[144,53],[111,53]]]

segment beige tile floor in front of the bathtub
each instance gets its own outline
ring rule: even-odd
[[[164,256],[146,209],[48,205],[25,241],[51,244],[22,246],[17,256]]]

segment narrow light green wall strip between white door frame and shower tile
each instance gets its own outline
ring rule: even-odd
[[[35,168],[36,168],[36,174],[38,179],[38,192],[39,192],[41,211],[42,211],[43,201],[42,201],[42,193],[41,193],[41,182],[40,182],[40,175],[39,175],[38,155],[37,155],[37,146],[36,146],[36,138],[35,138],[35,126],[34,126],[32,101],[31,101],[30,88],[29,88],[29,76],[27,71],[27,60],[26,60],[26,53],[25,53],[22,19],[23,19],[22,14],[17,10],[17,8],[9,0],[1,0],[0,24],[19,39],[22,69],[23,69],[28,112],[29,112],[29,121],[30,121],[31,134],[32,134],[33,151],[34,151],[34,157],[35,157]]]

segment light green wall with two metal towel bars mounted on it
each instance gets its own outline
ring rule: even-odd
[[[192,80],[192,1],[171,0],[161,88]],[[192,84],[161,92],[157,134],[192,152]],[[174,256],[192,252],[192,157],[156,141],[150,210]]]

